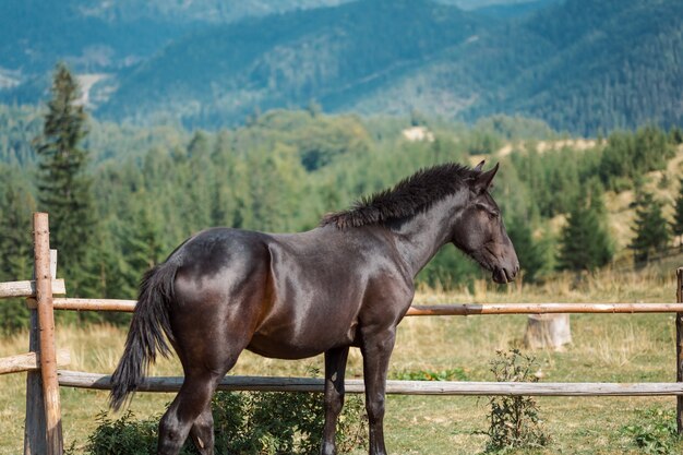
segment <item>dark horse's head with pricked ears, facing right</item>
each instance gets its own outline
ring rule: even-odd
[[[519,261],[501,211],[489,193],[499,165],[488,171],[482,167],[483,161],[475,167],[476,177],[468,180],[469,197],[455,224],[453,243],[491,271],[495,283],[507,283],[517,276]]]

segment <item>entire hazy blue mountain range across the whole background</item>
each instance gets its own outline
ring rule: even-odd
[[[44,97],[59,56],[117,121],[217,128],[315,100],[582,134],[681,124],[681,17],[680,0],[9,0],[0,101]]]

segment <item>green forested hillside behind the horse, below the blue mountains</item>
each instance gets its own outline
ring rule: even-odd
[[[7,214],[0,216],[0,247],[14,251],[29,244],[16,238],[29,235],[31,212],[48,209],[36,202],[38,158],[29,145],[40,118],[28,108],[0,108],[0,214]],[[406,135],[415,120],[431,136]],[[98,232],[88,261],[99,272],[82,275],[76,294],[94,296],[132,292],[135,271],[158,263],[200,229],[310,229],[323,214],[438,163],[500,163],[495,196],[529,280],[574,268],[563,253],[572,219],[592,219],[576,227],[590,232],[587,238],[598,228],[604,234],[595,246],[604,254],[579,261],[579,268],[631,262],[639,209],[659,207],[666,218],[662,244],[652,251],[673,246],[673,203],[683,189],[681,129],[644,127],[574,142],[524,118],[493,117],[468,127],[431,118],[328,116],[311,106],[267,111],[217,133],[98,121],[88,130],[83,146],[92,158],[86,173],[96,182]],[[683,220],[683,205],[680,212]],[[683,234],[683,223],[675,232]],[[16,252],[16,264],[25,265],[22,254]],[[0,274],[19,276],[13,264],[7,262],[11,270]],[[419,280],[448,287],[479,274],[446,249]]]

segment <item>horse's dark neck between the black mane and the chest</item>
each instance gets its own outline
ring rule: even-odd
[[[465,202],[465,194],[447,196],[393,229],[396,248],[414,277],[452,240],[453,221]]]

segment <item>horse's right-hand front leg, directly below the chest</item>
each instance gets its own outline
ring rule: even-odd
[[[370,427],[370,455],[386,455],[384,446],[384,397],[388,360],[394,349],[396,327],[363,331],[363,380],[366,410]]]

